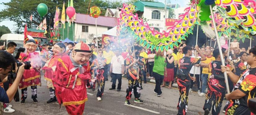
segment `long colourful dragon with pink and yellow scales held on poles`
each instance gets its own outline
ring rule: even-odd
[[[169,49],[178,46],[181,40],[186,40],[192,33],[195,24],[209,25],[213,29],[212,17],[210,16],[210,5],[215,6],[217,12],[215,22],[219,36],[228,35],[231,29],[237,28],[236,35],[239,38],[248,35],[256,35],[256,23],[253,14],[256,13],[256,2],[254,0],[191,0],[185,13],[179,15],[174,25],[167,31],[158,32],[144,23],[136,12],[135,7],[123,4],[120,18],[118,18],[117,36],[122,39],[135,39],[143,47],[151,49]],[[207,31],[204,31],[206,35]],[[245,34],[240,34],[245,33]]]

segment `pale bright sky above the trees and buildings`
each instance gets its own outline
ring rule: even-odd
[[[156,1],[164,3],[165,0],[156,0]],[[189,4],[189,1],[190,0],[167,0],[168,3],[172,3],[172,4],[178,3],[181,7],[187,7]],[[10,2],[10,0],[1,0],[1,2]],[[3,10],[5,8],[6,7],[4,5],[0,4],[0,10]],[[2,21],[0,22],[0,25],[1,26],[4,25],[8,27],[11,31],[15,31],[15,23],[13,21],[8,21],[8,20]]]

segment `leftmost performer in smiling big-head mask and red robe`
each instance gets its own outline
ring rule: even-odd
[[[19,88],[21,89],[21,104],[25,104],[25,99],[27,99],[27,87],[31,86],[32,99],[34,103],[37,103],[37,85],[41,86],[40,80],[40,68],[41,59],[38,52],[35,52],[37,42],[34,39],[28,39],[25,41],[25,48],[27,48],[27,53],[21,53],[19,60],[30,61],[31,68],[26,69],[19,83]]]

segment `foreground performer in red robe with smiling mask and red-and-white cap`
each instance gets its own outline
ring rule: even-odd
[[[75,45],[69,58],[58,59],[52,76],[59,104],[71,115],[82,115],[87,101],[86,80],[90,74],[90,47],[86,43]]]

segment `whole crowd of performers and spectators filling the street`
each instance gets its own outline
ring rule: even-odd
[[[193,89],[197,90],[198,96],[205,97],[202,106],[204,115],[210,111],[212,115],[220,112],[226,115],[253,115],[248,109],[248,99],[256,97],[256,47],[239,47],[237,40],[230,44],[229,49],[221,50],[225,59],[225,66],[222,66],[219,49],[207,45],[191,47],[182,42],[174,49],[161,51],[132,42],[124,45],[103,45],[95,41],[90,44],[53,42],[38,45],[35,40],[29,39],[24,45],[27,52],[21,53],[17,59],[19,62],[31,62],[30,69],[24,70],[18,85],[22,93],[21,104],[26,102],[27,87],[31,87],[33,102],[38,102],[37,86],[41,85],[43,80],[40,75],[44,73],[50,94],[47,103],[57,101],[72,115],[83,114],[86,90],[96,90],[97,100],[101,101],[106,90],[105,82],[112,82],[109,90],[119,92],[122,77],[128,79],[123,83],[128,84],[124,96],[127,105],[132,105],[132,93],[135,103],[144,103],[144,97],[141,97],[142,83],[153,79],[155,89],[152,92],[157,97],[168,93],[162,92],[161,87],[171,89],[174,83],[178,84],[178,115],[187,113],[188,97]],[[9,42],[6,52],[13,54],[16,46],[16,43]],[[35,52],[37,47],[40,53]],[[7,60],[3,56],[6,52],[0,52],[0,60]],[[1,62],[0,68],[6,70],[15,67],[15,62],[9,63],[6,63],[9,65],[7,67]],[[12,69],[10,71],[15,73]],[[228,75],[231,93],[226,91],[224,72]],[[6,91],[14,81],[8,80],[9,76],[3,80],[1,77],[0,84]],[[17,95],[15,101],[19,101],[19,93]],[[227,100],[226,106],[222,108],[224,99]],[[14,112],[8,103],[4,101],[3,112]]]

